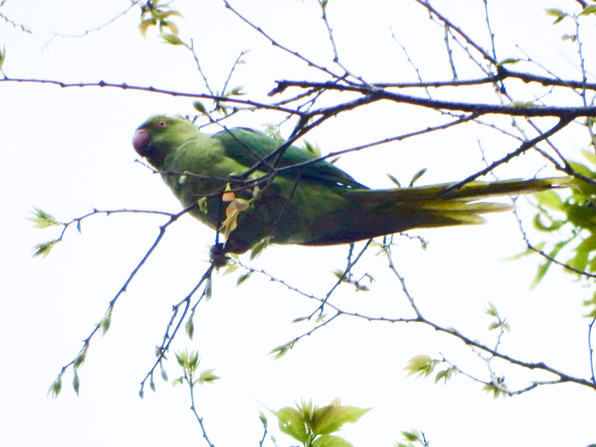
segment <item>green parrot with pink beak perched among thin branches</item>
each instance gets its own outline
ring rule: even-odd
[[[412,228],[483,224],[481,214],[513,206],[477,200],[563,187],[571,179],[474,181],[448,194],[442,191],[452,184],[373,190],[308,150],[288,146],[271,156],[283,144],[246,128],[201,134],[181,116],[162,115],[150,117],[132,139],[182,206],[225,235],[223,253],[265,242],[325,246]]]

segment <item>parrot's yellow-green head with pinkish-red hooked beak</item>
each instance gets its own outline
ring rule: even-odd
[[[198,134],[197,127],[181,116],[155,115],[142,123],[132,137],[132,147],[160,169],[166,157]]]

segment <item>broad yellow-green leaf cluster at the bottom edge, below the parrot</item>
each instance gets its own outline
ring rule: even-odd
[[[278,418],[281,432],[305,447],[351,447],[352,444],[345,439],[330,433],[341,430],[343,424],[355,423],[368,411],[370,408],[341,406],[338,398],[322,408],[313,406],[312,401],[302,401],[300,405],[296,404],[296,408],[286,406],[271,412]]]

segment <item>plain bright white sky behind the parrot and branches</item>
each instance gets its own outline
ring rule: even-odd
[[[483,2],[433,1],[451,20],[461,24],[485,48],[488,32]],[[184,48],[159,43],[154,29],[148,39],[136,29],[138,11],[85,38],[54,38],[51,32],[80,34],[100,26],[126,7],[126,1],[88,2],[8,0],[0,12],[33,30],[24,35],[0,23],[0,45],[6,45],[8,77],[53,79],[63,82],[126,82],[182,92],[205,92],[193,58]],[[253,1],[233,3],[250,20],[280,43],[333,67],[333,53],[318,5],[299,2]],[[275,79],[323,80],[316,70],[273,48],[262,36],[232,15],[221,1],[177,1],[184,15],[175,20],[181,38],[194,38],[195,48],[213,88],[221,89],[240,51],[251,49],[232,77],[231,86],[244,85],[247,98],[268,100]],[[515,44],[561,77],[580,79],[575,47],[560,41],[573,32],[570,24],[551,27],[544,8],[578,11],[574,1],[489,2],[499,59],[521,57]],[[330,0],[328,18],[340,58],[369,82],[415,80],[390,27],[421,71],[424,80],[449,79],[443,31],[428,20],[414,1]],[[583,27],[587,69],[596,72],[594,20]],[[48,44],[48,45],[46,45]],[[461,52],[455,52],[461,77],[479,76]],[[528,66],[520,66],[520,69]],[[339,69],[337,69],[339,71]],[[510,93],[529,101],[541,89],[527,91],[511,83]],[[436,98],[495,102],[490,88],[469,92],[432,91]],[[547,98],[572,104],[561,95]],[[64,375],[57,400],[46,398],[60,368],[79,352],[99,322],[107,303],[153,243],[165,222],[155,216],[94,216],[82,222],[82,235],[69,228],[64,241],[42,260],[30,258],[35,244],[57,237],[59,229],[30,228],[23,218],[31,206],[41,207],[61,221],[98,209],[155,209],[176,212],[178,202],[157,176],[134,163],[131,138],[135,128],[155,113],[193,114],[192,100],[147,92],[108,88],[69,88],[26,83],[0,83],[0,135],[4,173],[1,177],[2,242],[0,257],[4,344],[0,368],[0,436],[2,445],[90,446],[163,445],[196,442],[203,445],[200,427],[188,409],[185,387],[172,387],[156,377],[157,393],[139,382],[154,362],[171,306],[191,290],[207,267],[207,247],[213,232],[190,217],[172,225],[162,243],[118,300],[105,337],[91,342],[80,369],[79,398],[70,387],[72,370]],[[204,101],[208,104],[207,101]],[[579,105],[578,103],[575,103]],[[279,122],[281,114],[238,114],[227,126],[263,129]],[[507,126],[507,120],[495,120]],[[326,122],[308,136],[324,153],[395,136],[445,122],[439,114],[406,105],[376,104]],[[542,122],[546,128],[552,120]],[[555,142],[571,159],[581,160],[584,131],[570,131]],[[211,129],[217,131],[218,129]],[[289,126],[283,129],[289,134]],[[371,148],[343,157],[337,164],[371,187],[392,184],[387,172],[402,183],[422,167],[429,170],[420,184],[453,181],[483,167],[478,141],[489,160],[516,148],[512,139],[477,125],[424,135]],[[530,177],[544,166],[529,154],[498,171],[501,178]],[[548,175],[548,170],[543,173]],[[531,207],[519,200],[526,229],[531,231]],[[513,215],[493,215],[489,224],[412,232],[430,240],[423,251],[417,241],[399,238],[395,249],[398,271],[427,318],[455,327],[473,339],[495,342],[486,328],[491,318],[482,310],[494,303],[512,330],[501,351],[523,361],[545,361],[554,368],[589,377],[588,321],[582,300],[591,297],[583,282],[553,269],[531,293],[536,257],[502,262],[522,252],[524,244]],[[357,246],[361,247],[362,244]],[[269,247],[254,268],[307,293],[324,296],[344,267],[347,247]],[[249,262],[248,256],[245,261]],[[365,315],[412,316],[399,283],[386,259],[370,250],[355,269],[375,278],[368,293],[342,285],[333,295],[336,305]],[[312,312],[317,303],[266,278],[253,277],[235,287],[238,273],[213,278],[213,299],[198,308],[193,342],[180,333],[170,351],[166,370],[170,381],[179,368],[173,352],[197,349],[203,369],[217,368],[222,377],[213,386],[197,389],[197,408],[210,439],[218,447],[257,445],[262,426],[257,419],[262,403],[279,409],[301,398],[326,405],[336,396],[344,405],[374,407],[340,436],[356,446],[387,446],[401,440],[399,432],[423,431],[434,446],[486,447],[515,445],[573,445],[596,442],[594,397],[574,384],[542,387],[514,398],[497,399],[480,391],[482,385],[458,375],[447,386],[432,378],[405,378],[402,368],[412,356],[443,353],[470,374],[488,380],[482,360],[458,340],[413,324],[382,324],[338,318],[305,337],[283,359],[271,361],[273,347],[310,330],[313,323],[290,324]],[[198,297],[198,295],[197,295]],[[331,313],[330,313],[331,315]],[[520,371],[502,362],[493,367],[512,389],[547,374]],[[434,375],[433,375],[434,377]],[[258,401],[258,402],[257,402]],[[280,446],[295,445],[269,426]],[[269,442],[269,441],[266,441]]]

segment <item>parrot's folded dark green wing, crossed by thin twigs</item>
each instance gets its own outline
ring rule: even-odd
[[[246,128],[227,129],[213,135],[224,147],[226,157],[234,159],[236,162],[244,166],[254,166],[261,162],[266,156],[277,150],[283,141],[277,138],[267,136],[262,132],[253,131]],[[296,146],[288,147],[281,159],[277,163],[277,167],[292,166],[294,164],[305,163],[315,160],[318,157],[307,150],[297,148]],[[268,163],[273,163],[273,159],[269,159]],[[265,170],[261,168],[262,170]],[[311,181],[329,182],[331,184],[341,184],[352,188],[367,188],[364,185],[355,181],[350,175],[333,164],[320,160],[319,162],[300,166],[296,169],[288,169],[280,172],[279,175],[291,176],[295,178],[300,173],[300,178]]]

